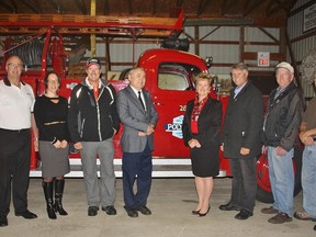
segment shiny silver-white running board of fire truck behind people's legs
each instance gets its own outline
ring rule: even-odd
[[[98,177],[100,177],[100,160],[97,159]],[[122,178],[122,159],[114,159],[116,178]],[[30,171],[30,177],[42,177],[41,167]],[[82,178],[81,159],[70,159],[69,178]],[[191,170],[190,159],[153,159],[154,178],[184,178],[194,177]],[[218,177],[226,177],[226,171],[219,170]]]

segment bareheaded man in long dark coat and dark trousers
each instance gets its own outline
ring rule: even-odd
[[[256,162],[261,154],[263,123],[263,97],[248,81],[248,68],[244,63],[232,67],[236,87],[230,92],[223,127],[222,150],[229,158],[233,183],[228,204],[222,211],[240,211],[235,218],[247,219],[253,215],[257,192]]]

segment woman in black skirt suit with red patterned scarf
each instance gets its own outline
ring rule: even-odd
[[[201,72],[195,78],[196,98],[187,104],[182,132],[190,147],[192,171],[199,204],[192,214],[205,216],[210,211],[213,177],[219,171],[219,129],[222,103],[210,97],[211,76]]]

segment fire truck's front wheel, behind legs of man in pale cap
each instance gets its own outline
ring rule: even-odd
[[[295,172],[294,196],[297,195],[302,190],[302,154],[303,148],[301,146],[295,146],[293,157],[293,166]],[[259,157],[257,161],[257,200],[263,203],[272,203],[273,195],[270,187],[268,158],[264,155]]]

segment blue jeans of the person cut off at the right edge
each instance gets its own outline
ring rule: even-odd
[[[302,187],[303,208],[316,218],[316,143],[303,151]]]

